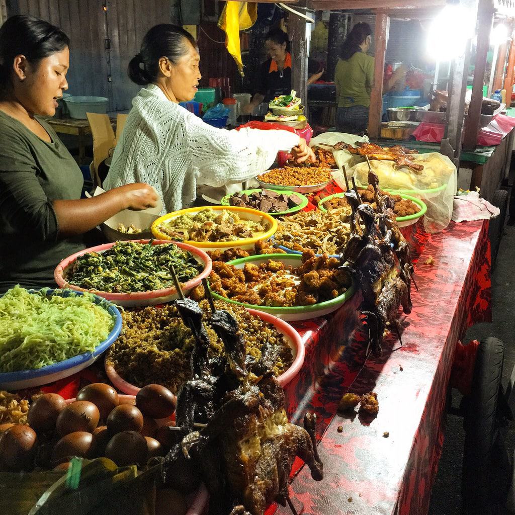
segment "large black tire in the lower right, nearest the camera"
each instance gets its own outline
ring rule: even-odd
[[[492,502],[492,463],[500,438],[497,400],[501,391],[504,344],[487,338],[477,348],[472,392],[466,398],[465,447],[461,474],[461,497],[467,515],[488,515]]]

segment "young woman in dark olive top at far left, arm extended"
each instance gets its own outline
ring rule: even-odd
[[[0,293],[55,286],[54,268],[84,248],[82,236],[124,209],[153,207],[147,184],[80,199],[82,174],[54,130],[68,88],[70,40],[49,23],[12,16],[0,27]]]

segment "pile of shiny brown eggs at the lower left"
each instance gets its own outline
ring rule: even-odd
[[[105,456],[118,467],[143,467],[163,455],[168,446],[159,441],[156,420],[173,415],[174,394],[147,385],[135,406],[119,401],[116,390],[104,383],[85,386],[69,404],[57,393],[43,394],[30,406],[27,424],[0,425],[0,470],[66,469],[73,456]]]

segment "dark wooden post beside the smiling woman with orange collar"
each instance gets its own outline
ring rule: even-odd
[[[298,5],[305,5],[299,2]],[[310,14],[309,11],[304,11]],[[295,14],[288,17],[288,35],[291,41],[291,87],[297,92],[297,96],[302,98],[304,104],[304,114],[308,115],[307,110],[307,45],[306,20]],[[311,32],[310,32],[311,36]]]

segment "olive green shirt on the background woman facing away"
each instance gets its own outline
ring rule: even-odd
[[[338,59],[334,71],[338,107],[370,107],[374,83],[374,58],[356,52],[350,59]]]

